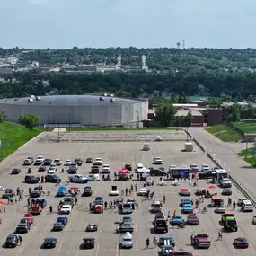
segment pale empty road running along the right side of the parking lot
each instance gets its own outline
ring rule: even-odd
[[[256,170],[237,155],[238,152],[245,149],[246,145],[244,143],[222,142],[203,128],[190,128],[189,132],[209,154],[215,157],[216,162],[230,171],[234,179],[256,199]]]

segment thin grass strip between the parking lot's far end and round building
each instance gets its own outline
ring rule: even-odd
[[[177,128],[71,128],[70,131],[140,131],[140,130],[177,130]],[[66,132],[69,132],[68,128]]]

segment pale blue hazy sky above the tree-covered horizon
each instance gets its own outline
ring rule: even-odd
[[[0,47],[256,48],[256,0],[0,0]]]

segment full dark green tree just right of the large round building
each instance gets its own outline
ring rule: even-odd
[[[164,127],[169,127],[173,123],[175,114],[176,109],[171,103],[162,103],[155,111],[155,118]]]

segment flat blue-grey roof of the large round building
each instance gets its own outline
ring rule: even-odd
[[[53,95],[53,96],[41,96],[40,101],[28,102],[29,97],[18,99],[4,99],[0,101],[0,104],[10,105],[27,105],[31,106],[105,106],[109,104],[135,104],[144,100],[130,100],[123,98],[115,98],[115,102],[110,102],[112,97],[103,97],[104,101],[100,101],[101,96],[97,95]]]

